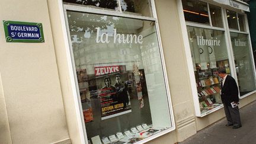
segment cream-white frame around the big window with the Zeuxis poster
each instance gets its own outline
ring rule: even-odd
[[[120,1],[120,0],[118,0]],[[65,37],[65,49],[66,49],[66,55],[68,59],[68,68],[69,68],[69,75],[70,75],[70,81],[72,85],[72,93],[73,93],[73,98],[75,101],[73,103],[75,104],[76,108],[76,118],[78,119],[78,129],[79,129],[79,135],[81,136],[81,142],[82,143],[88,143],[88,137],[87,137],[87,130],[85,127],[84,123],[84,116],[82,114],[82,104],[81,104],[81,98],[79,94],[79,87],[78,87],[78,79],[76,76],[76,69],[75,69],[75,61],[74,61],[74,56],[73,56],[73,51],[72,51],[72,43],[71,43],[71,35],[69,33],[69,25],[68,25],[68,15],[67,11],[77,11],[77,12],[85,12],[85,13],[91,13],[91,14],[103,14],[107,16],[114,16],[114,17],[124,17],[124,18],[133,18],[133,19],[138,19],[138,20],[148,20],[148,21],[154,21],[155,22],[155,28],[156,28],[156,36],[158,40],[158,46],[159,46],[159,55],[161,58],[161,66],[163,69],[163,75],[164,75],[164,84],[165,84],[165,89],[167,92],[167,103],[168,103],[168,111],[169,111],[169,116],[171,119],[171,128],[164,130],[162,132],[156,133],[153,136],[146,137],[143,140],[140,140],[139,143],[145,143],[149,142],[152,139],[155,139],[156,137],[165,135],[166,133],[169,133],[173,130],[175,130],[175,121],[174,121],[174,113],[172,110],[172,102],[171,102],[171,93],[169,90],[169,84],[168,84],[168,77],[167,77],[167,69],[165,65],[165,59],[164,59],[164,52],[162,49],[162,42],[161,42],[161,37],[160,37],[160,31],[159,31],[159,25],[158,25],[158,19],[156,15],[156,9],[155,9],[155,3],[153,0],[151,1],[151,7],[152,7],[152,16],[153,17],[145,17],[145,16],[140,16],[140,15],[132,15],[132,14],[127,14],[121,11],[109,11],[106,9],[95,9],[95,8],[88,8],[88,7],[82,7],[78,5],[67,5],[64,4],[62,0],[58,0],[59,2],[59,7],[61,9],[61,16],[62,16],[62,30],[63,34]]]

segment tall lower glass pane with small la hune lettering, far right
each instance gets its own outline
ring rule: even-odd
[[[240,95],[255,91],[255,78],[252,67],[248,34],[231,33],[233,55]]]

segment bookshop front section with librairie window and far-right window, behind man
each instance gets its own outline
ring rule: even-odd
[[[198,117],[223,107],[219,68],[225,68],[236,79],[240,98],[256,90],[248,23],[243,12],[249,11],[248,5],[231,2],[236,4],[235,8],[213,2],[182,1],[196,79],[197,95],[193,97]]]

